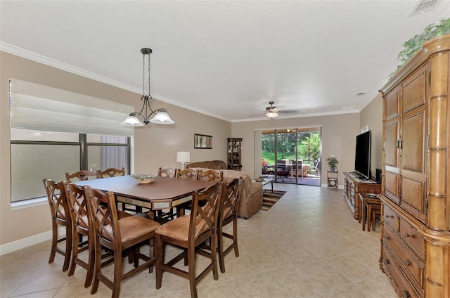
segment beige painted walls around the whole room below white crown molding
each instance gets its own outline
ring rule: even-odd
[[[8,79],[22,79],[53,88],[82,93],[118,103],[134,105],[141,109],[140,95],[123,89],[86,79],[76,74],[35,63],[0,51],[0,245],[49,231],[49,207],[40,205],[11,210],[10,205],[10,145]],[[155,173],[158,167],[179,167],[176,152],[191,152],[191,160],[226,160],[226,138],[243,138],[243,171],[255,174],[255,130],[292,127],[322,127],[322,156],[335,155],[339,160],[339,181],[342,171],[353,171],[355,136],[368,124],[373,131],[375,151],[381,148],[381,101],[378,98],[358,113],[295,119],[235,122],[220,119],[183,108],[152,101],[152,108],[167,108],[174,119],[173,125],[148,124],[136,128],[134,138],[134,173]],[[375,110],[375,113],[373,112]],[[376,129],[375,129],[376,128]],[[193,134],[213,136],[212,150],[193,149]],[[260,150],[260,144],[257,144]],[[373,152],[375,152],[373,151]],[[381,155],[373,154],[373,164],[380,167]],[[259,165],[259,157],[258,165]],[[49,165],[51,166],[51,165]],[[374,168],[374,167],[373,167]],[[323,164],[322,172],[326,171]],[[326,176],[323,176],[326,177]],[[322,178],[321,183],[326,183]],[[30,224],[32,223],[32,224]]]

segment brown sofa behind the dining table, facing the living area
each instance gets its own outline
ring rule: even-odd
[[[262,207],[262,183],[253,182],[249,174],[243,171],[226,169],[226,162],[222,160],[212,160],[205,162],[192,162],[186,164],[186,168],[206,171],[214,169],[224,172],[224,181],[230,183],[234,179],[243,177],[242,188],[240,189],[238,216],[248,219]]]

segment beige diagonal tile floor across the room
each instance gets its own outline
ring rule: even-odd
[[[226,256],[226,273],[198,285],[198,297],[397,297],[380,271],[380,227],[364,232],[342,190],[275,183],[287,193],[269,211],[239,219],[238,258]],[[86,271],[63,272],[59,254],[48,264],[50,242],[0,257],[1,297],[110,297],[85,289]],[[172,254],[175,250],[167,250]],[[198,264],[204,261],[199,258]],[[105,268],[112,272],[112,268]],[[122,283],[120,297],[189,297],[188,280],[143,271]]]

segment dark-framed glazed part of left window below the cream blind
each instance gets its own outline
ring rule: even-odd
[[[129,156],[127,136],[11,129],[11,202],[44,197],[42,179],[64,180],[66,172],[124,167],[129,173]]]

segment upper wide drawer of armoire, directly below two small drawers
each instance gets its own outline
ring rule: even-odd
[[[399,266],[403,268],[404,271],[409,272],[409,275],[413,277],[413,283],[423,290],[423,273],[425,267],[423,263],[413,257],[412,252],[407,252],[409,249],[405,249],[400,244],[396,232],[391,231],[390,228],[385,228],[383,234],[383,244],[388,243],[388,245],[385,246],[392,247],[392,250],[397,253],[397,263]],[[392,253],[392,255],[396,254]]]

